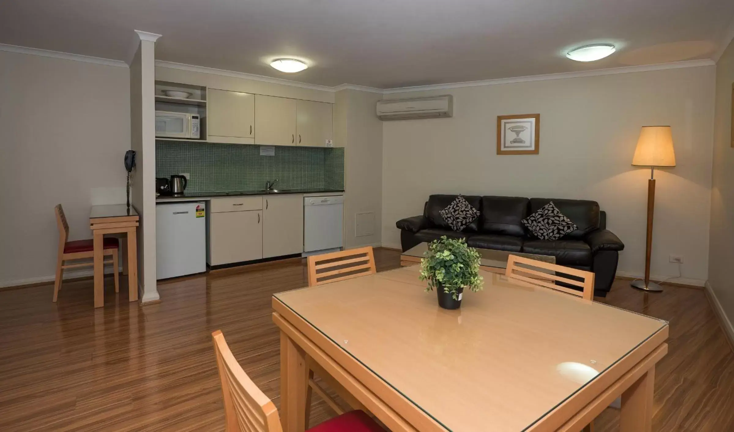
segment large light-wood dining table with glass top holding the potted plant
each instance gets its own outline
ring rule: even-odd
[[[310,362],[393,432],[581,431],[619,396],[619,430],[651,431],[666,321],[483,270],[444,310],[419,270],[273,296],[284,431],[307,427]]]

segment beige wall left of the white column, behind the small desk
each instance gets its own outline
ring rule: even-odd
[[[77,240],[93,201],[125,201],[129,95],[126,67],[0,51],[0,286],[54,279],[54,205]]]

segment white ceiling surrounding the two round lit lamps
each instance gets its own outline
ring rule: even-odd
[[[134,29],[156,59],[310,84],[391,88],[708,59],[732,0],[4,0],[0,43],[126,60]],[[611,42],[592,63],[569,48]],[[277,56],[310,68],[280,73]]]

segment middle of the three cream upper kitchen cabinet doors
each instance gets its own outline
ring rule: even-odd
[[[255,95],[255,143],[296,145],[296,112],[299,100]]]

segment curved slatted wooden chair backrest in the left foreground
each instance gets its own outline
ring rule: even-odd
[[[226,432],[283,432],[275,404],[259,389],[232,355],[225,337],[211,334],[225,405]]]

